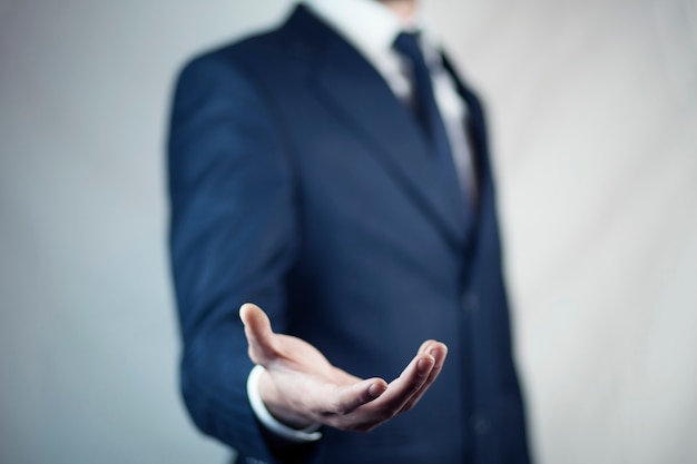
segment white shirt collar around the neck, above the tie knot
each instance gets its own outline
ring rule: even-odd
[[[426,27],[423,1],[414,17],[405,21],[376,0],[304,0],[316,14],[330,23],[344,39],[369,57],[380,57],[392,49],[402,31],[422,31],[429,45],[436,38]]]

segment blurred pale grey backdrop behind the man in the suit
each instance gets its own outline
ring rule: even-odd
[[[164,140],[291,0],[0,0],[0,463],[223,463],[177,389]],[[488,102],[542,464],[697,462],[697,0],[431,0]]]

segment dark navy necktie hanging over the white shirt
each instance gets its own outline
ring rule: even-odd
[[[445,125],[435,101],[431,71],[419,45],[419,33],[402,32],[394,41],[394,49],[406,58],[413,69],[413,112],[430,141],[434,161],[450,201],[467,215],[468,201],[455,170]]]

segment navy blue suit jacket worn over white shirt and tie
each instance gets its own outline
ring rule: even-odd
[[[448,200],[412,115],[304,7],[185,67],[169,140],[181,389],[198,427],[239,456],[529,461],[484,118],[459,91],[480,184],[470,221]],[[369,434],[327,428],[317,444],[284,446],[245,393],[245,302],[362,377],[399,375],[426,338],[449,357],[409,413]]]

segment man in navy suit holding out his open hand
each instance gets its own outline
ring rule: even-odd
[[[183,394],[237,462],[529,462],[482,110],[415,0],[197,58],[169,150]]]

